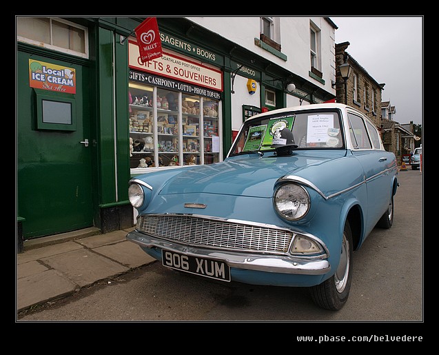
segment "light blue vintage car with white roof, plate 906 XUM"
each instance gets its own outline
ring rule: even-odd
[[[396,157],[365,115],[338,103],[243,123],[221,163],[130,181],[139,212],[127,239],[164,266],[221,281],[309,287],[346,303],[352,254],[394,220]]]

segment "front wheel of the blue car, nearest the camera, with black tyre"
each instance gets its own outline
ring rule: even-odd
[[[343,242],[340,262],[334,275],[320,285],[311,287],[313,301],[326,310],[338,311],[347,301],[352,280],[352,232],[346,221],[343,230]]]

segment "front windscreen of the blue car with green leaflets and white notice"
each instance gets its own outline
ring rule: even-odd
[[[292,131],[298,150],[344,148],[338,111],[283,112],[246,121],[234,141],[230,155],[274,150],[273,136],[279,128]]]

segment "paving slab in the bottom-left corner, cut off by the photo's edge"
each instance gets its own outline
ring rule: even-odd
[[[17,310],[52,301],[78,289],[57,270],[47,270],[17,280]]]

